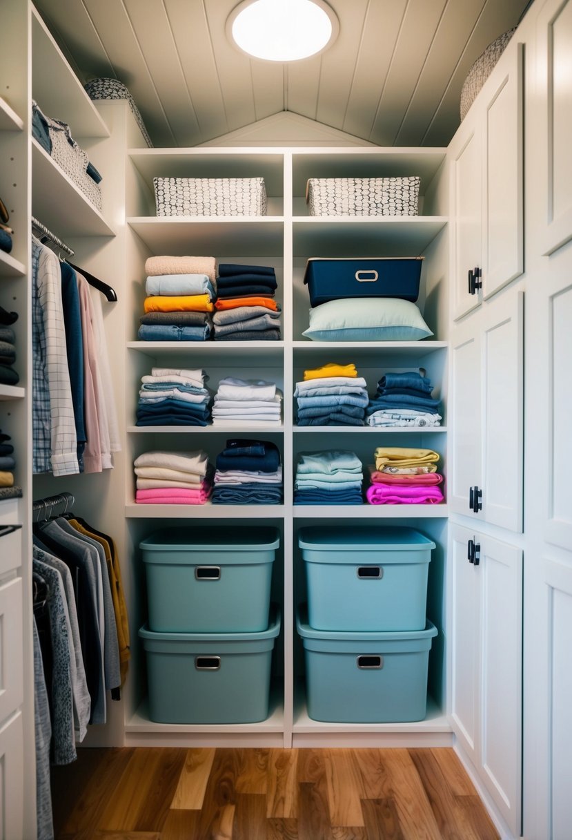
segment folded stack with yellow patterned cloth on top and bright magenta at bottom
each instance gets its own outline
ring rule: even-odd
[[[371,505],[437,505],[443,501],[437,472],[439,454],[433,449],[378,447],[375,467],[370,467],[372,484],[367,488]]]

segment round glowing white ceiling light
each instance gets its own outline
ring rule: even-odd
[[[338,19],[322,0],[244,0],[226,21],[240,50],[267,61],[298,61],[325,50]]]

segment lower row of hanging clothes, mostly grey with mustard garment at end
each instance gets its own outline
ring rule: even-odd
[[[120,699],[129,659],[117,548],[76,516],[74,505],[67,491],[32,505],[38,814],[44,816],[49,763],[70,764],[88,724],[106,722],[107,691]]]

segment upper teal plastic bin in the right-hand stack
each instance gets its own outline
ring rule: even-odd
[[[300,528],[316,630],[423,630],[433,543],[413,528]]]

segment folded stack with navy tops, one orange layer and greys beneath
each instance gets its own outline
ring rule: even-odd
[[[212,319],[215,341],[279,341],[276,286],[272,266],[221,263]]]

